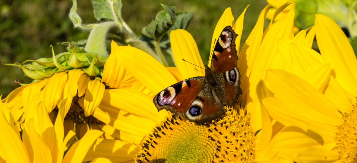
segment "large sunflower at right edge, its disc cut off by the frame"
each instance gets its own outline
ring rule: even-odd
[[[321,55],[301,41],[280,40],[291,69],[268,70],[258,85],[263,110],[287,126],[272,141],[297,148],[277,151],[296,162],[356,162],[355,53],[327,16],[316,15],[313,28]]]

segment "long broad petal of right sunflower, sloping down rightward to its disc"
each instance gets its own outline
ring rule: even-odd
[[[287,104],[296,105],[291,107],[301,108],[296,112],[309,112],[306,116],[325,124],[340,123],[341,114],[331,101],[305,80],[283,70],[268,70],[266,79],[276,97]]]

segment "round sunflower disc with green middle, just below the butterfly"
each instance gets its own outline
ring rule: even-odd
[[[225,115],[204,125],[183,116],[167,118],[147,136],[135,161],[253,161],[255,135],[250,115],[243,109],[225,109]]]

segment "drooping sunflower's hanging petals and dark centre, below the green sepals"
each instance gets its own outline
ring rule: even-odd
[[[52,122],[58,112],[62,112],[65,115],[65,133],[75,127],[76,137],[80,139],[86,131],[98,128],[101,123],[91,114],[99,105],[104,89],[105,85],[100,80],[90,77],[81,69],[72,69],[21,86],[2,101],[7,102],[17,122],[33,117],[36,105],[42,102]],[[84,109],[78,105],[79,98],[85,101]]]

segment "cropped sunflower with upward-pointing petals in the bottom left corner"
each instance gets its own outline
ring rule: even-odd
[[[0,135],[1,162],[82,162],[90,145],[102,131],[90,130],[74,143],[75,132],[64,133],[63,116],[59,114],[54,125],[42,102],[33,110],[36,118],[28,118],[24,130],[19,127],[6,103],[0,102],[0,123],[5,134]],[[70,148],[67,148],[70,143]]]

